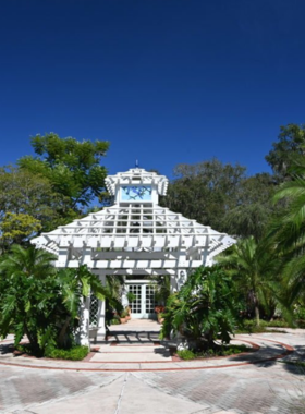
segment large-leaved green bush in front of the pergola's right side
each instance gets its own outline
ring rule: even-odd
[[[219,266],[199,267],[169,297],[161,337],[180,333],[196,350],[216,348],[217,339],[229,343],[239,309],[233,292],[231,278]]]

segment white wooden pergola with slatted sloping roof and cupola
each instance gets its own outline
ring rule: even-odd
[[[179,290],[190,269],[210,266],[217,254],[235,243],[225,233],[160,207],[159,195],[164,196],[168,187],[163,175],[134,168],[108,176],[106,185],[114,197],[113,206],[32,241],[57,255],[56,267],[87,265],[103,283],[107,275],[134,277],[142,285],[141,278],[145,281],[147,275],[170,275],[172,289]],[[137,292],[135,281],[131,285]],[[86,327],[88,309],[86,303]],[[101,303],[100,332],[105,331],[103,319]]]

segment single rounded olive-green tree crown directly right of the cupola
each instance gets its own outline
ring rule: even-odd
[[[196,165],[179,165],[175,179],[169,185],[161,204],[190,219],[211,226],[219,231],[225,228],[224,216],[237,205],[241,181],[245,168],[223,165],[218,159]]]

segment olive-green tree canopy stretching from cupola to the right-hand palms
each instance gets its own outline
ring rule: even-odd
[[[161,205],[218,231],[259,240],[274,210],[274,180],[268,173],[247,178],[245,170],[216,158],[179,165]]]

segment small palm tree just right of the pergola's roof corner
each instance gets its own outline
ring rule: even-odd
[[[270,293],[276,292],[279,258],[267,248],[266,243],[257,243],[251,236],[240,240],[230,253],[219,256],[218,263],[232,275],[239,290],[254,308],[259,326],[259,306],[268,308],[272,297]]]

